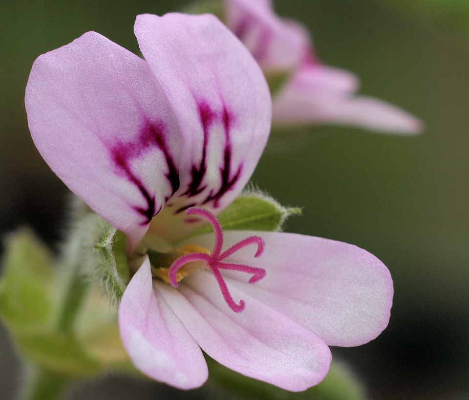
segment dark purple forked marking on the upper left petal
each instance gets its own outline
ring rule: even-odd
[[[162,123],[153,124],[147,120],[140,129],[140,134],[135,142],[120,142],[110,148],[111,157],[116,164],[118,173],[128,178],[130,182],[138,188],[147,202],[146,208],[137,206],[133,207],[135,211],[146,217],[146,221],[142,222],[142,225],[149,223],[151,219],[160,212],[163,205],[160,205],[158,210],[156,210],[155,196],[150,195],[149,190],[145,187],[140,178],[133,173],[130,167],[130,161],[142,156],[151,148],[156,147],[160,149],[163,152],[168,165],[166,178],[170,181],[172,194],[174,194],[179,188],[179,174],[169,152],[168,145],[166,144],[164,129],[165,127]],[[165,201],[168,199],[169,196]]]

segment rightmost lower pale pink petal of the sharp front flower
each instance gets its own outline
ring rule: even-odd
[[[265,241],[254,258],[246,247],[227,262],[266,270],[256,284],[246,274],[223,271],[230,282],[262,303],[310,329],[332,346],[358,346],[378,336],[389,321],[393,285],[384,264],[352,244],[293,233],[225,231],[225,246],[253,234]],[[213,235],[191,243],[213,246]],[[231,290],[231,289],[230,289]],[[245,299],[246,310],[250,304]]]

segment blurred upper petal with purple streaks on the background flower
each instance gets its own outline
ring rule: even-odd
[[[225,0],[225,22],[266,72],[288,70],[307,55],[309,34],[274,14],[270,1]]]

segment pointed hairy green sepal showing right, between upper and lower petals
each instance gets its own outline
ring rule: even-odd
[[[226,230],[279,231],[288,217],[298,214],[301,214],[300,208],[283,207],[260,191],[248,190],[241,193],[217,219]],[[194,235],[208,232],[213,232],[210,225]]]

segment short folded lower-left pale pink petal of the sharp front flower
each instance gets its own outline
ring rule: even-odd
[[[150,378],[180,389],[193,389],[207,380],[207,364],[199,346],[158,286],[153,288],[148,258],[122,296],[119,330],[133,364]]]

